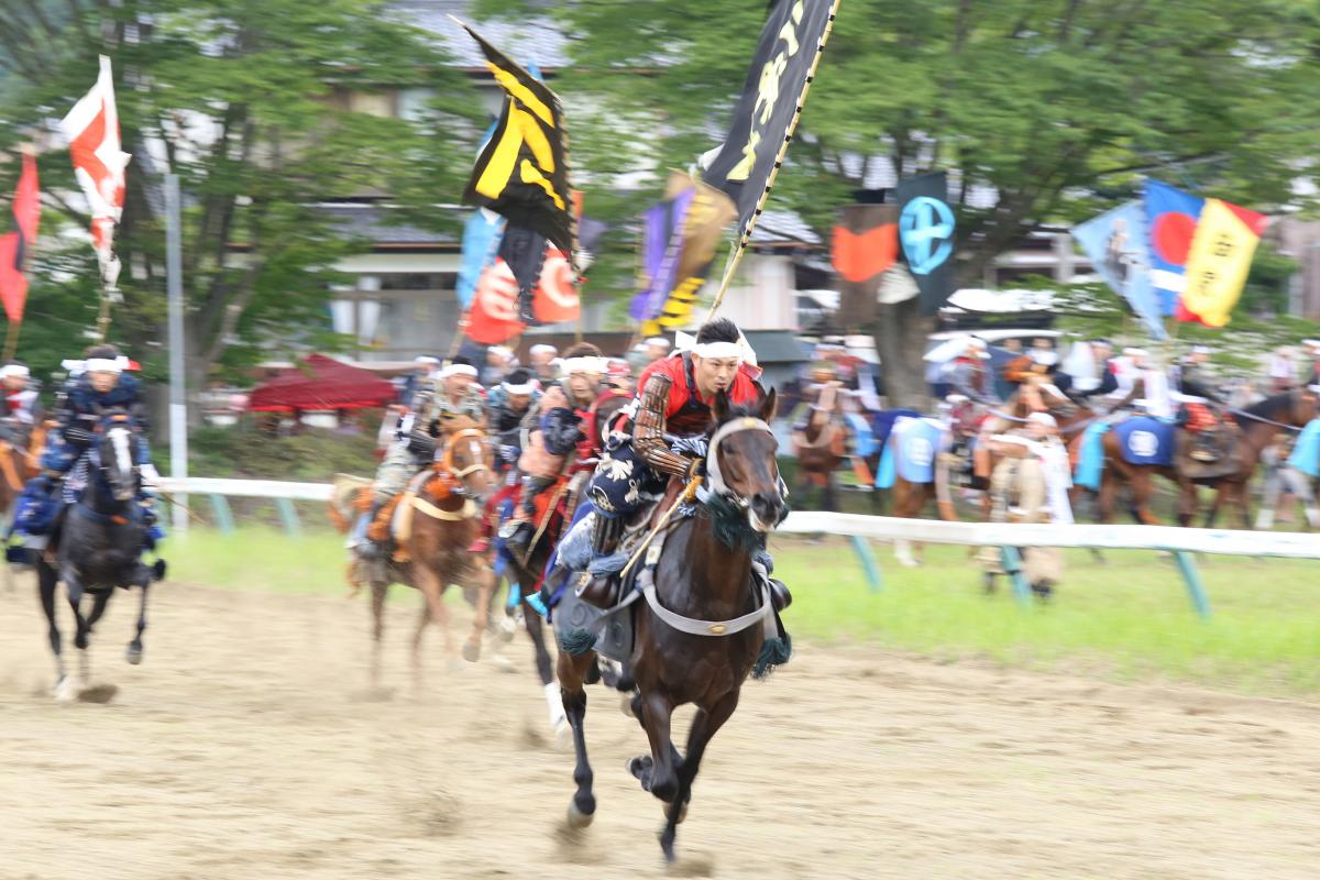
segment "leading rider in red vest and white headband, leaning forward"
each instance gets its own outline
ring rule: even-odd
[[[659,500],[671,476],[692,479],[698,472],[702,453],[690,441],[705,437],[717,393],[744,406],[760,398],[744,363],[748,355],[738,326],[717,318],[697,331],[690,350],[657,360],[642,373],[639,396],[615,424],[589,489],[597,513],[591,545],[598,557],[614,553],[628,519]]]

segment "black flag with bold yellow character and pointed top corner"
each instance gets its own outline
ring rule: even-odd
[[[565,253],[576,253],[568,135],[560,99],[475,30],[458,24],[480,46],[486,66],[506,94],[495,131],[463,190],[463,202],[503,214],[511,226],[539,232]]]

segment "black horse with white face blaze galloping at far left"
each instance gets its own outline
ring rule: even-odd
[[[157,561],[154,567],[148,567],[141,561],[147,524],[137,501],[141,480],[136,463],[137,443],[137,429],[128,414],[112,412],[103,416],[96,441],[87,454],[87,488],[55,520],[50,542],[36,561],[41,608],[46,613],[50,650],[55,654],[59,676],[55,697],[61,701],[106,702],[116,693],[112,685],[86,687],[91,674],[87,656],[90,636],[116,588],[137,587],[143,591],[137,631],[125,652],[129,664],[136,666],[143,661],[148,590],[153,579],[164,577],[165,563]],[[55,588],[61,581],[74,612],[81,683],[65,668],[62,637],[55,623]],[[86,617],[82,613],[84,595],[92,598],[91,613]]]

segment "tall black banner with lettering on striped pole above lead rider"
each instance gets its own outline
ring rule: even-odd
[[[704,175],[708,183],[727,193],[738,207],[738,239],[710,306],[711,315],[723,302],[788,154],[840,3],[774,0],[766,17],[729,137]]]

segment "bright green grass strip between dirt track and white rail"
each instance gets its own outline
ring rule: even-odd
[[[172,578],[242,590],[342,595],[342,536],[290,540],[273,529],[223,537],[194,529],[168,545]],[[777,540],[776,575],[793,590],[787,623],[813,644],[874,645],[941,661],[1179,681],[1261,694],[1320,694],[1320,562],[1205,557],[1199,561],[1213,617],[1192,610],[1170,559],[1107,551],[1097,565],[1068,551],[1048,607],[1020,610],[1008,584],[986,598],[964,548],[928,546],[921,569],[898,566],[867,588],[851,548],[829,538]]]

